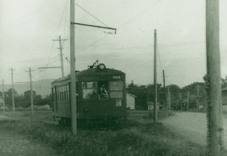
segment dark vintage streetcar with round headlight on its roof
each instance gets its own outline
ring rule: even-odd
[[[70,75],[52,82],[54,119],[71,123]],[[77,123],[117,125],[126,119],[125,73],[104,64],[76,72]]]

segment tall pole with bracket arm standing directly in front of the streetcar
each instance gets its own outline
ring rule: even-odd
[[[74,10],[75,0],[70,0],[70,72],[71,72],[71,115],[72,133],[77,134],[77,108],[76,108],[76,74],[75,74],[75,30],[74,30]]]

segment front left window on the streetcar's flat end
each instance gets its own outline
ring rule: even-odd
[[[83,99],[97,98],[97,83],[96,82],[82,82]]]

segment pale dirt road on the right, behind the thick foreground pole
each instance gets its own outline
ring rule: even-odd
[[[162,121],[164,125],[192,142],[206,145],[207,120],[205,113],[175,112]],[[227,119],[223,120],[224,144],[227,149]]]

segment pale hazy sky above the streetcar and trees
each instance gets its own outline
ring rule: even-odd
[[[205,0],[76,0],[75,22],[108,26],[117,33],[75,25],[76,70],[96,60],[126,73],[126,80],[153,84],[154,29],[157,30],[158,83],[203,82],[206,73]],[[61,35],[64,71],[70,73],[69,0],[0,0],[0,79],[11,83],[57,79]],[[221,74],[227,75],[227,1],[220,0]],[[67,59],[65,59],[67,58]]]

